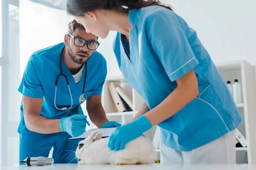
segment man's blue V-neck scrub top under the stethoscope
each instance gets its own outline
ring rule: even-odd
[[[24,96],[44,98],[40,115],[49,119],[61,119],[74,114],[83,114],[81,104],[79,103],[79,96],[83,91],[85,67],[80,82],[76,84],[63,59],[62,69],[70,83],[73,107],[63,111],[56,109],[54,105],[55,81],[60,74],[60,55],[64,46],[64,43],[60,43],[32,54],[26,65],[20,87],[18,88],[18,91]],[[99,52],[94,51],[91,58],[87,61],[87,72],[84,88],[85,99],[90,95],[100,95],[102,93],[102,86],[107,76],[107,64],[105,58]],[[58,79],[56,106],[57,108],[69,108],[71,106],[70,92],[66,79],[63,76]],[[33,133],[26,128],[22,102],[20,111],[18,133]]]

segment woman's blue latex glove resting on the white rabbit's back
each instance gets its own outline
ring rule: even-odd
[[[148,119],[145,116],[140,116],[134,122],[117,127],[110,136],[108,147],[111,150],[122,150],[125,148],[126,143],[139,137],[143,132],[147,131],[151,127],[152,125]]]

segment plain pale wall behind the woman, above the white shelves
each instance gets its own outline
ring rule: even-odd
[[[256,0],[160,0],[169,3],[198,37],[214,62],[245,59],[256,65]],[[108,77],[122,75],[113,53],[115,32],[99,40]]]

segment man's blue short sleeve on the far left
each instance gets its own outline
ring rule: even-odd
[[[44,91],[40,81],[43,77],[43,69],[44,65],[40,65],[40,67],[36,67],[35,63],[32,59],[29,59],[21,83],[18,91],[24,96],[34,97],[34,98],[43,98]]]

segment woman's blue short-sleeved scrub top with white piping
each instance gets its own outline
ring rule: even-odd
[[[177,87],[176,80],[194,69],[199,95],[158,125],[161,142],[175,150],[192,150],[234,130],[241,116],[226,82],[196,32],[175,12],[160,6],[129,11],[130,59],[120,33],[113,50],[125,80],[150,109]]]

